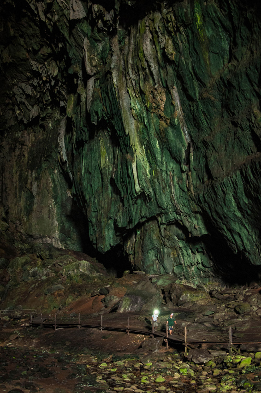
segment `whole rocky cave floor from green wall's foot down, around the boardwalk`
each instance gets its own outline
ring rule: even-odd
[[[259,285],[192,287],[142,272],[115,278],[83,257],[58,250],[55,258],[32,262],[30,270],[23,257],[8,266],[2,259],[1,393],[261,391]],[[161,336],[153,338],[154,307]],[[31,326],[29,314],[22,318],[22,309],[31,308],[50,322],[55,314],[57,321],[77,321],[80,313],[81,320],[99,322],[102,316],[105,326],[123,331]],[[183,341],[187,329],[187,356],[182,344],[164,342],[171,311],[176,338]],[[130,327],[149,334],[127,335],[127,316]]]

